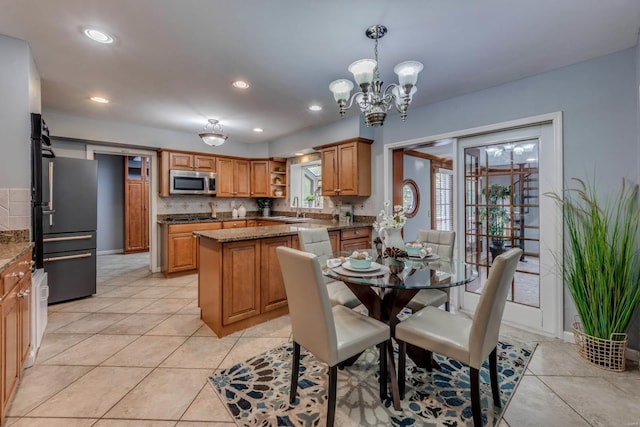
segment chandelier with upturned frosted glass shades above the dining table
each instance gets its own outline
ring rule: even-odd
[[[407,109],[417,90],[418,73],[422,71],[423,66],[417,61],[405,61],[396,65],[393,71],[398,75],[398,84],[389,85],[382,91],[382,80],[378,72],[378,39],[386,33],[387,27],[384,25],[372,25],[367,28],[366,36],[376,43],[376,59],[361,59],[349,65],[348,69],[353,73],[356,84],[360,86],[360,92],[350,97],[353,83],[347,79],[335,80],[329,85],[329,90],[333,92],[333,97],[340,107],[340,117],[344,118],[345,112],[355,101],[364,114],[367,126],[382,126],[387,111],[392,106],[396,107],[402,121],[407,118]]]

